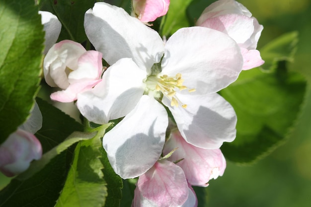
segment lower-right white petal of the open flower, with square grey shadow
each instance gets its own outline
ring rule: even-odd
[[[188,143],[197,147],[216,149],[224,141],[233,141],[236,115],[233,107],[217,93],[204,96],[178,95],[187,108],[171,107],[163,103],[176,121],[179,132]]]

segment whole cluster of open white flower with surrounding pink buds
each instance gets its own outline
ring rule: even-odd
[[[123,118],[104,135],[103,147],[120,177],[139,177],[133,207],[197,206],[191,186],[223,175],[220,146],[236,133],[233,107],[217,92],[241,70],[263,64],[256,50],[263,27],[242,4],[218,0],[196,26],[163,41],[146,23],[168,5],[133,0],[131,16],[97,2],[84,16],[96,51],[65,40],[44,59],[46,82],[62,89],[51,99],[77,101],[96,124]]]

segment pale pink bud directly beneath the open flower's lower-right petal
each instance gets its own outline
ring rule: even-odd
[[[178,148],[168,158],[170,161],[181,160],[180,166],[191,185],[208,186],[210,179],[216,179],[224,174],[226,160],[220,149],[203,149],[189,144],[178,131],[171,134],[165,142],[163,153],[167,154]]]

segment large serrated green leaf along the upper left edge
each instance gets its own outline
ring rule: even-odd
[[[1,0],[0,144],[23,124],[40,82],[43,26],[33,0]]]

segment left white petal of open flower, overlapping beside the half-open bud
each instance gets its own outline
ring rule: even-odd
[[[126,116],[144,93],[146,75],[131,59],[119,60],[94,88],[78,94],[80,113],[97,124]]]

